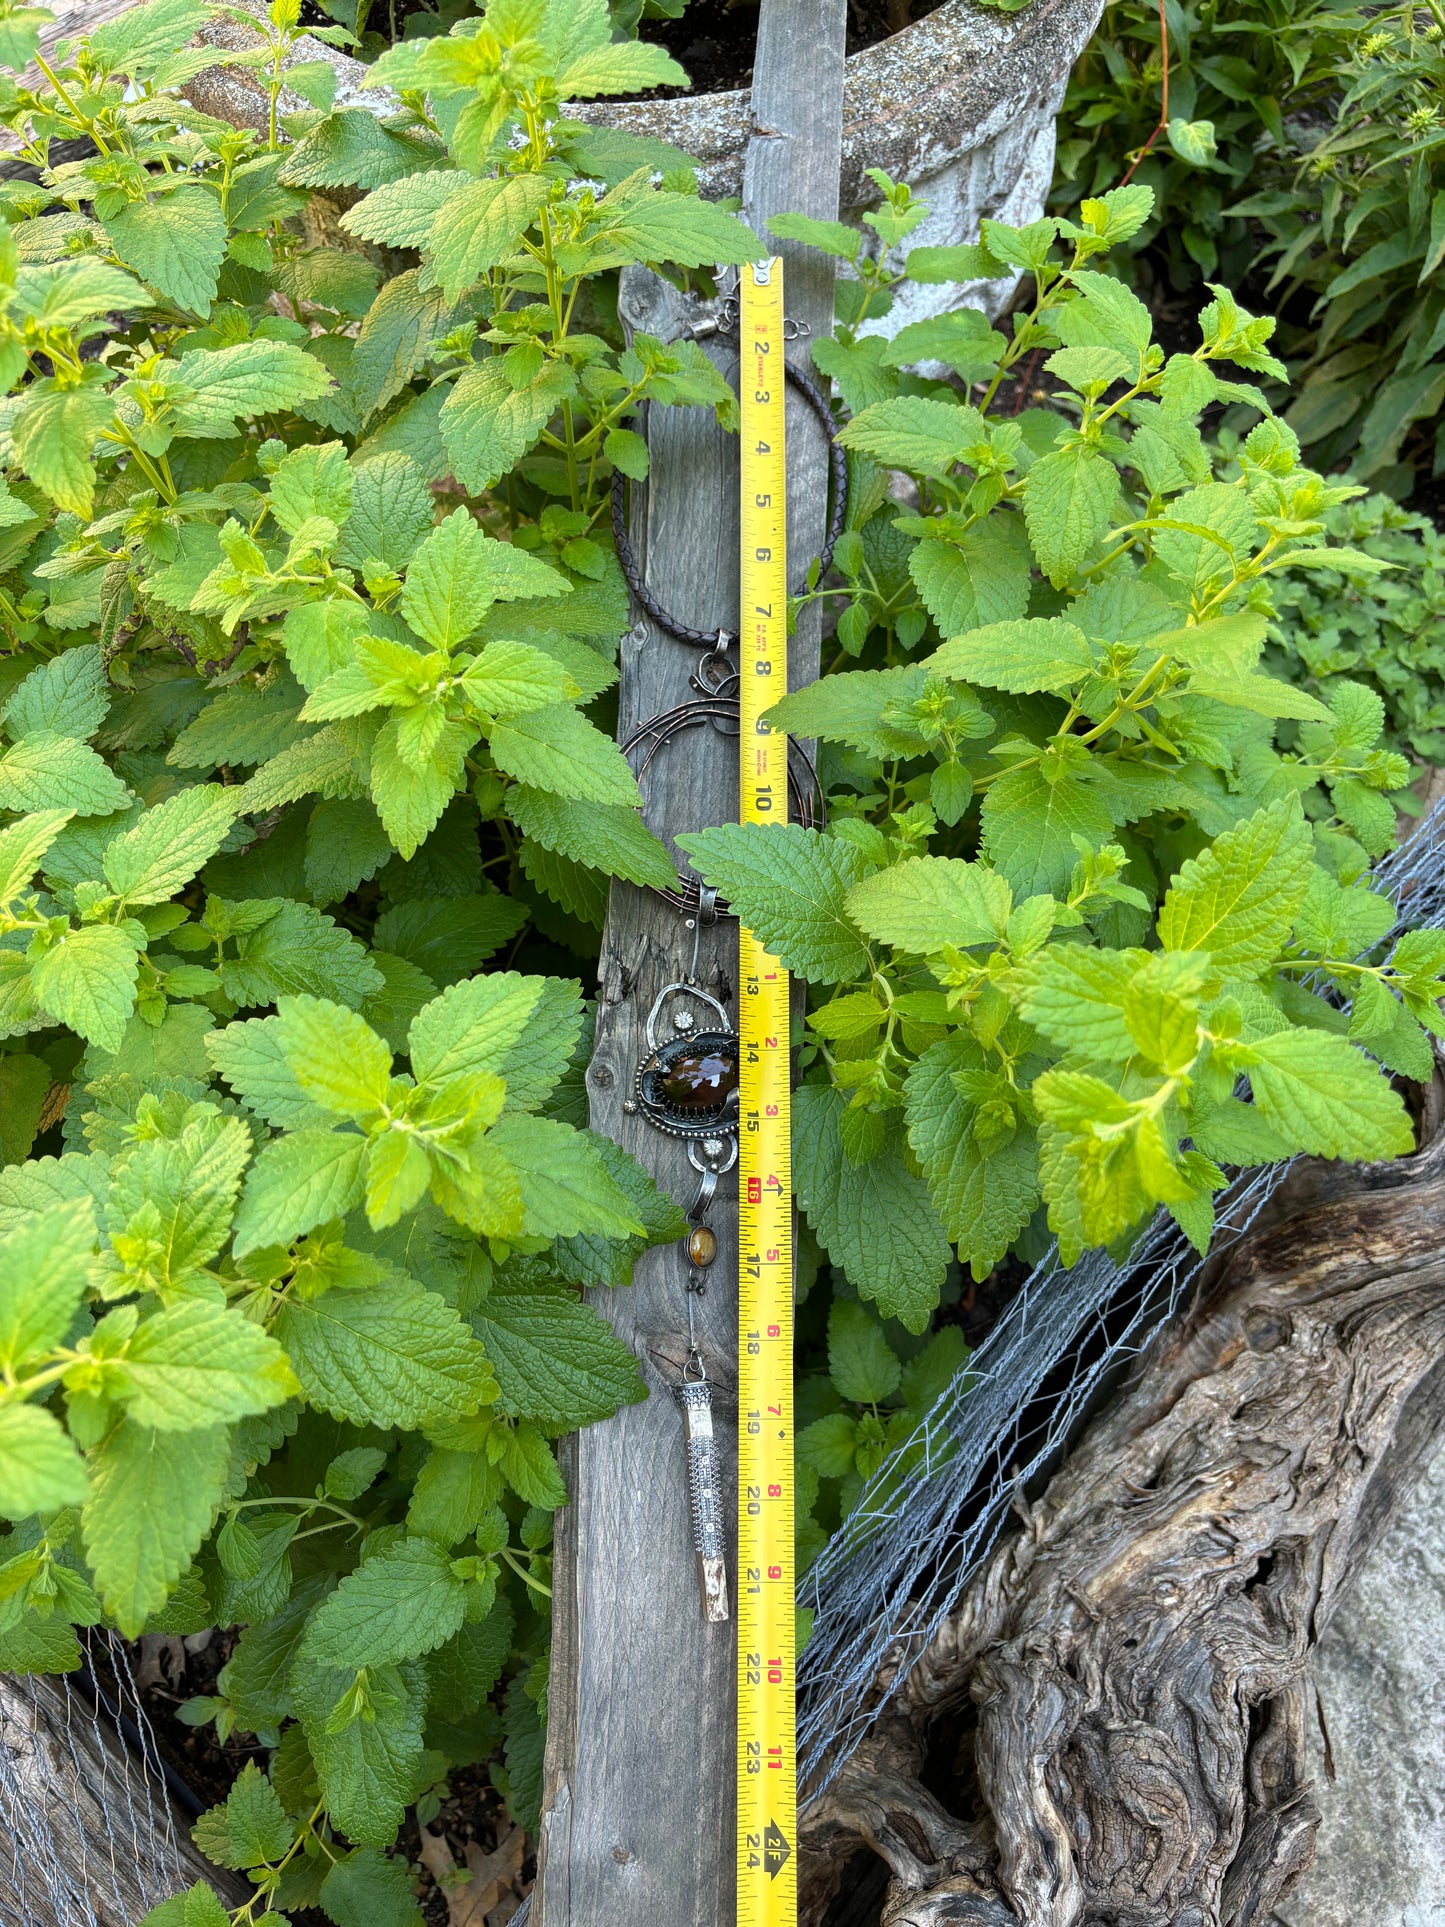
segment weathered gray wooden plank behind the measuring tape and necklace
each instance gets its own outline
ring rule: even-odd
[[[755,135],[746,216],[798,208],[836,218],[842,137],[844,0],[763,0],[755,66]],[[778,249],[784,254],[792,251]],[[813,331],[832,326],[827,262],[788,260],[786,310]],[[657,276],[622,277],[622,322],[674,339],[697,306]],[[709,343],[728,376],[736,353]],[[807,353],[800,341],[794,355]],[[827,453],[819,424],[788,410],[792,580],[817,553],[827,520]],[[699,628],[738,615],[738,453],[701,409],[655,409],[651,478],[634,491],[634,543],[663,605]],[[790,682],[819,673],[809,611],[790,644]],[[622,646],[620,736],[696,694],[697,653],[642,620]],[[661,834],[736,821],[736,738],[711,725],[674,740],[644,779],[644,809]],[[736,927],[705,931],[697,975],[732,1008]],[[615,884],[601,954],[597,1044],[588,1073],[591,1122],[657,1175],[684,1206],[696,1189],[686,1150],[622,1112],[657,990],[680,977],[692,933],[669,906]],[[736,1202],[724,1181],[711,1224],[719,1254],[697,1332],[715,1387],[728,1534],[736,1524]],[[672,1397],[686,1357],[686,1266],[676,1247],[647,1253],[632,1287],[593,1303],[632,1347],[649,1387],[601,1426],[570,1439],[572,1493],[559,1515],[538,1890],[532,1927],[728,1927],[734,1906],[732,1773],[736,1634],[705,1624],[697,1601],[684,1484],[682,1424]],[[734,1565],[732,1555],[728,1565]],[[736,1572],[730,1572],[736,1599]]]

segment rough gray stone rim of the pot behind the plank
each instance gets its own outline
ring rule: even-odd
[[[256,0],[250,10],[260,10]],[[1058,85],[1100,12],[1102,0],[1033,0],[1017,13],[998,13],[975,0],[944,0],[923,19],[852,54],[844,73],[842,206],[879,202],[867,168],[909,179],[992,141],[1019,112],[1021,98],[1042,102]],[[247,46],[247,29],[212,21],[198,39],[239,50]],[[399,106],[391,89],[364,87],[362,62],[304,35],[291,64],[314,60],[335,69],[337,106],[360,106],[378,116]],[[264,89],[245,67],[206,67],[187,92],[202,112],[241,125],[264,123]],[[306,102],[289,96],[285,104],[295,112]],[[566,112],[680,146],[697,162],[697,185],[709,198],[742,195],[748,143],[769,133],[753,125],[751,94],[744,87],[674,100],[572,102]]]

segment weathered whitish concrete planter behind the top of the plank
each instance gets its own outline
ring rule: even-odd
[[[992,13],[973,0],[946,0],[904,33],[854,54],[844,83],[842,206],[857,224],[877,204],[867,168],[906,179],[929,202],[913,245],[973,241],[983,218],[1037,220],[1054,170],[1054,118],[1073,62],[1098,25],[1102,0],[1033,0],[1021,13]],[[200,35],[216,48],[243,48],[245,27],[218,21]],[[385,114],[395,98],[362,87],[366,67],[322,40],[301,40],[297,60],[337,71],[337,104]],[[206,114],[264,127],[266,92],[245,67],[208,67],[187,89]],[[291,108],[304,106],[293,98]],[[578,119],[670,141],[697,160],[701,191],[742,193],[751,129],[746,89],[682,100],[578,106]],[[1013,279],[907,287],[886,331],[944,308],[996,314]]]

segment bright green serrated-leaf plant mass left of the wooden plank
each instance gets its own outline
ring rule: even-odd
[[[171,91],[206,17],[2,104],[0,1665],[241,1626],[187,1707],[274,1748],[198,1827],[239,1917],[399,1927],[451,1767],[536,1815],[551,1441],[644,1395],[578,1287],[684,1231],[586,1131],[607,875],[672,875],[597,524],[640,401],[734,401],[607,277],[757,243],[557,119],[678,77],[601,4],[497,0],[387,56],[391,121],[270,139]]]

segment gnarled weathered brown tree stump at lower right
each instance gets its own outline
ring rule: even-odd
[[[1264,1927],[1314,1852],[1310,1651],[1445,1426],[1439,1118],[1300,1168],[1021,1505],[807,1813],[803,1921],[867,1844],[884,1927]]]

